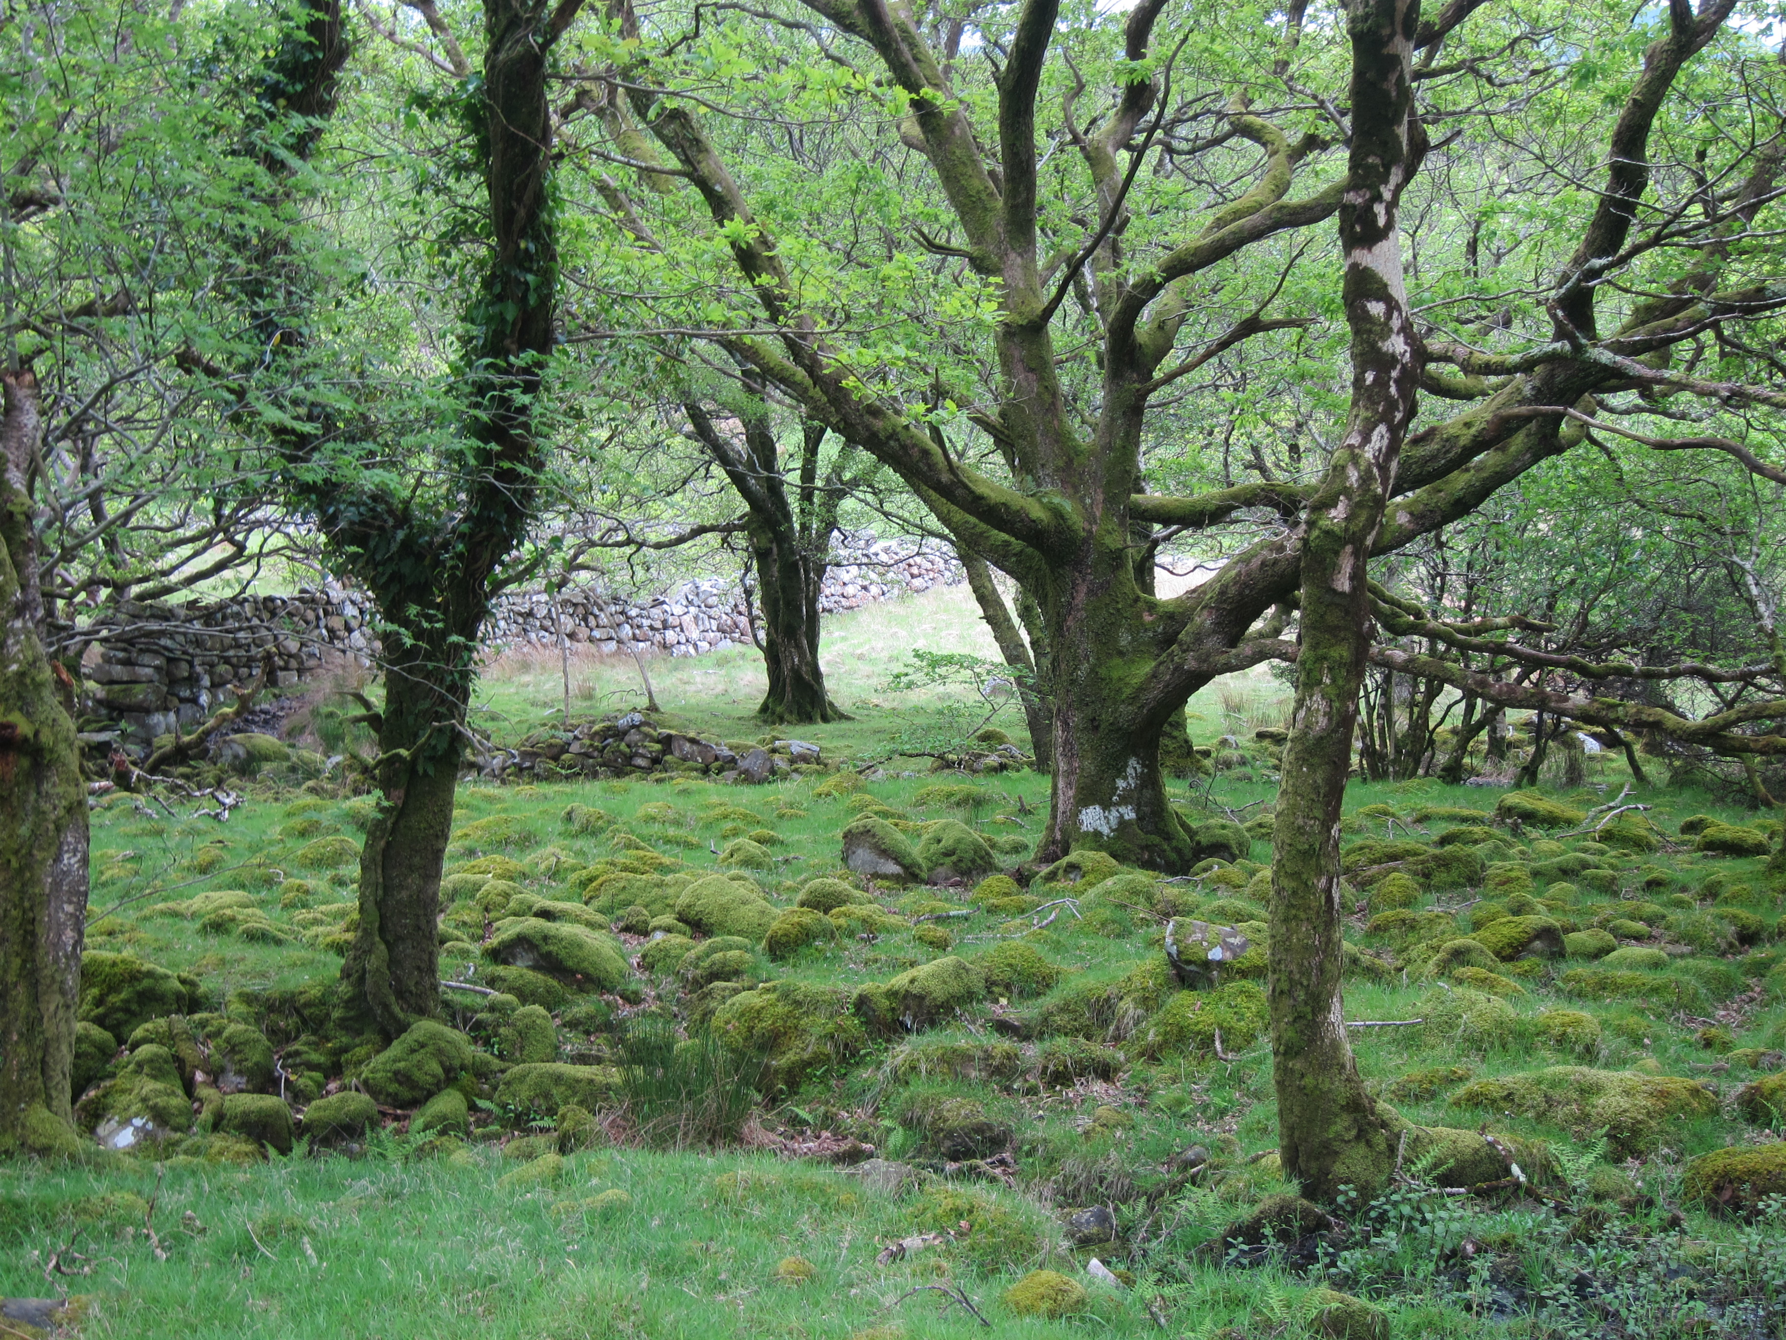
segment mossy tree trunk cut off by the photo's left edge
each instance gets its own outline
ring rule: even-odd
[[[29,368],[4,379],[0,481],[0,1154],[68,1154],[88,911],[88,797],[68,672],[43,649],[27,481],[43,418]]]

